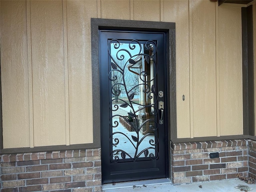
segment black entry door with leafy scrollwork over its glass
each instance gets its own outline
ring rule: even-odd
[[[166,34],[100,30],[102,182],[168,177]]]

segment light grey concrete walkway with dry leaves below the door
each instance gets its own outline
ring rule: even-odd
[[[256,184],[246,184],[239,179],[216,180],[182,185],[173,185],[171,183],[143,185],[142,182],[140,183],[140,186],[133,185],[126,188],[112,188],[108,190],[104,190],[103,186],[103,192],[240,192],[240,189],[235,188],[239,184],[248,186],[252,189],[251,192],[256,192]]]

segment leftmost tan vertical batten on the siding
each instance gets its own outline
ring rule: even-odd
[[[29,134],[30,147],[34,147],[34,108],[33,108],[33,74],[32,74],[32,42],[30,0],[26,1],[27,46],[28,46],[28,103],[29,103]]]

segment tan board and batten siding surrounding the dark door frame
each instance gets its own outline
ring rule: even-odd
[[[243,133],[240,8],[210,0],[1,1],[0,16],[4,148],[93,142],[97,17],[175,22],[178,138]]]

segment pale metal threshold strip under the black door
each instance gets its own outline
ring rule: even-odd
[[[168,183],[171,183],[171,180],[169,178],[122,182],[122,183],[116,183],[115,185],[110,183],[110,184],[103,184],[102,190],[120,189],[120,188],[134,187],[134,186],[139,187],[143,185],[147,186],[147,185],[168,184]]]

